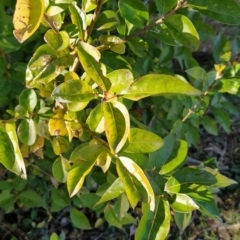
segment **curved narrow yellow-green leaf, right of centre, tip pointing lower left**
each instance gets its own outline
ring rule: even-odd
[[[184,140],[179,140],[177,143],[179,143],[179,146],[174,157],[165,162],[160,170],[160,174],[169,173],[184,164],[188,152],[188,144]]]

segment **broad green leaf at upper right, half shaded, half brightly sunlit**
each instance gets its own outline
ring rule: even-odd
[[[174,14],[166,18],[164,24],[180,45],[190,47],[193,51],[197,51],[199,47],[198,32],[187,17]]]

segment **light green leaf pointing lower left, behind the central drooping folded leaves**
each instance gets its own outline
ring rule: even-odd
[[[102,195],[102,197],[95,204],[95,206],[100,203],[112,200],[112,199],[118,197],[123,192],[124,192],[124,186],[123,186],[122,180],[120,178],[117,178],[113,182],[113,184],[106,190],[106,192]]]

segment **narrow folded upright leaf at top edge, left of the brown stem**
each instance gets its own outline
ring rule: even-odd
[[[78,28],[78,37],[80,40],[84,39],[84,31],[86,30],[86,14],[82,11],[77,3],[74,1],[72,5],[69,6],[70,17],[72,19],[72,23],[75,24]]]

